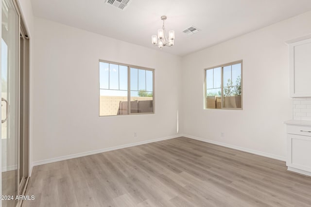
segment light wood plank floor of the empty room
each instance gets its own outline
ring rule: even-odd
[[[23,207],[307,207],[285,162],[180,137],[34,167]]]

